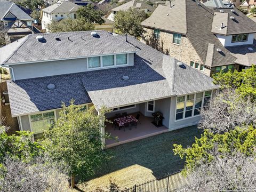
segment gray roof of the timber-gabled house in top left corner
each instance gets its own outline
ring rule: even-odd
[[[10,11],[15,17],[20,20],[33,20],[27,13],[22,11],[17,5],[12,2],[0,2],[0,20],[3,19],[7,11]],[[10,9],[11,7],[11,9]]]

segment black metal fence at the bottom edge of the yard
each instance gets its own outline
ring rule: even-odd
[[[181,174],[181,170],[168,173],[161,178],[134,185],[124,189],[122,192],[172,192],[186,185],[186,178]]]

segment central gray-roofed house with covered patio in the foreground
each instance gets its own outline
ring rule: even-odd
[[[107,117],[140,113],[149,124],[160,111],[166,131],[195,125],[219,88],[212,78],[135,38],[103,30],[28,35],[1,48],[0,63],[11,69],[11,115],[35,138],[59,118],[61,102],[69,105],[71,99],[97,113],[102,106],[113,109]]]

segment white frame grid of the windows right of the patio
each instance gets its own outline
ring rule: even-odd
[[[211,91],[211,99],[212,99],[212,93],[214,90],[206,90],[206,91]],[[205,92],[206,91],[201,91],[203,92],[203,97],[202,97],[202,103],[201,103],[201,109],[204,107],[204,98],[205,98]],[[196,93],[201,93],[201,92],[196,92]],[[190,95],[190,94],[186,94],[186,95],[179,95],[178,97],[182,97],[182,96],[185,96],[185,101],[184,101],[184,109],[183,109],[183,116],[181,119],[177,119],[176,120],[176,114],[177,114],[177,101],[178,101],[178,97],[176,97],[176,102],[175,102],[175,115],[174,115],[174,122],[178,122],[178,121],[182,121],[182,120],[186,120],[186,119],[190,119],[190,118],[193,118],[193,117],[198,117],[200,116],[201,114],[198,114],[198,115],[194,115],[194,110],[195,110],[195,103],[196,103],[196,93],[194,93],[194,103],[193,103],[193,109],[192,109],[192,115],[190,117],[186,117],[185,118],[185,115],[186,115],[186,106],[187,106],[187,95]],[[192,93],[193,94],[193,93]]]

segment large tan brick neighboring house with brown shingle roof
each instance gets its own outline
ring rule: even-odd
[[[164,52],[206,75],[256,64],[256,23],[235,8],[179,0],[158,5],[142,26],[147,43],[157,40]]]

